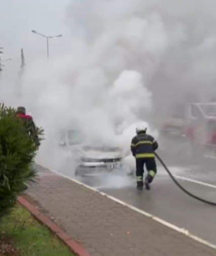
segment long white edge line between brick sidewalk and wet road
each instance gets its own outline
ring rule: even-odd
[[[140,214],[142,214],[142,215],[144,215],[144,216],[146,216],[146,217],[148,217],[148,218],[150,218],[150,219],[152,219],[152,220],[154,220],[154,221],[156,221],[156,222],[158,222],[158,223],[160,223],[160,224],[162,224],[162,225],[164,225],[164,226],[166,226],[168,228],[171,228],[171,229],[173,229],[173,230],[175,230],[175,231],[177,231],[179,233],[182,233],[182,234],[184,234],[184,235],[186,235],[186,236],[196,240],[197,242],[205,244],[205,245],[207,245],[207,246],[209,246],[209,247],[211,247],[211,248],[216,250],[216,245],[215,244],[212,244],[212,243],[210,243],[210,242],[208,242],[208,241],[206,241],[206,240],[204,240],[204,239],[202,239],[202,238],[200,238],[198,236],[195,236],[195,235],[191,234],[188,230],[186,230],[184,228],[179,228],[176,225],[173,225],[173,224],[171,224],[169,222],[166,222],[166,221],[164,221],[164,220],[162,220],[162,219],[160,219],[160,218],[158,218],[158,217],[156,217],[154,215],[149,214],[148,212],[146,212],[144,210],[141,210],[141,209],[139,209],[137,207],[134,207],[131,204],[127,204],[127,203],[125,203],[125,202],[123,202],[123,201],[121,201],[121,200],[119,200],[119,199],[117,199],[117,198],[115,198],[113,196],[110,196],[110,195],[108,195],[106,193],[103,193],[103,192],[99,191],[98,189],[95,189],[95,188],[90,187],[88,185],[85,185],[84,183],[81,183],[81,182],[79,182],[77,180],[69,178],[68,176],[60,174],[56,170],[49,169],[49,168],[46,168],[46,167],[44,167],[44,168],[47,169],[47,170],[50,170],[51,172],[53,172],[55,174],[58,174],[59,176],[64,177],[65,179],[68,179],[68,180],[70,180],[70,181],[72,181],[72,182],[74,182],[76,184],[79,184],[79,185],[81,185],[81,186],[83,186],[85,188],[88,188],[88,189],[90,189],[92,191],[95,191],[96,193],[99,193],[100,195],[105,196],[105,197],[107,197],[107,198],[109,198],[109,199],[111,199],[111,200],[113,200],[113,201],[115,201],[115,202],[117,202],[117,203],[119,203],[121,205],[124,205],[124,206],[126,206],[126,207],[128,207],[128,208],[130,208],[132,210],[135,210],[135,211],[139,212]]]

